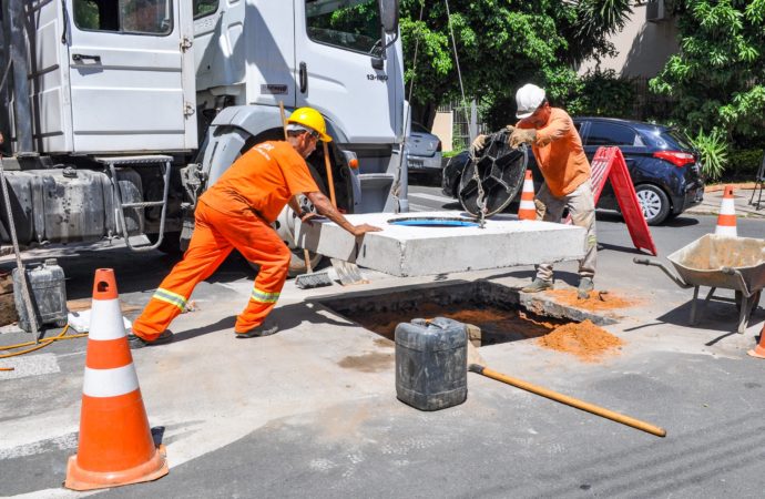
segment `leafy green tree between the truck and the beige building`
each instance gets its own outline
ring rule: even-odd
[[[443,1],[401,1],[406,81],[414,118],[432,122],[439,104],[461,99]],[[630,0],[450,0],[465,93],[488,109],[491,126],[514,121],[514,92],[527,82],[564,105],[582,83],[574,64],[612,53],[606,37],[621,29]],[[415,59],[415,45],[419,40]]]

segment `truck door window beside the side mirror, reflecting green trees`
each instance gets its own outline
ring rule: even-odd
[[[377,0],[306,0],[306,26],[319,43],[371,55],[382,45]]]

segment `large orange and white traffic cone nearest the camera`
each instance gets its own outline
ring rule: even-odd
[[[92,490],[167,475],[164,446],[154,446],[128,345],[114,271],[99,268],[82,387],[80,442],[64,487]]]

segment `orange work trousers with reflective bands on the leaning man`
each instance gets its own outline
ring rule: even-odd
[[[232,249],[261,266],[246,308],[236,317],[234,330],[246,333],[263,324],[276,305],[289,268],[289,248],[266,222],[254,213],[234,216],[200,202],[188,249],[162,281],[133,334],[152,342],[186,306],[194,287],[213,275]]]

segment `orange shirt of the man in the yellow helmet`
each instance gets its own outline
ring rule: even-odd
[[[244,153],[200,201],[230,215],[254,211],[272,223],[292,196],[318,190],[297,151],[287,142],[274,141]]]

